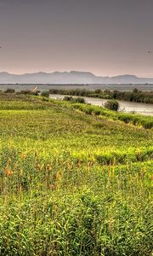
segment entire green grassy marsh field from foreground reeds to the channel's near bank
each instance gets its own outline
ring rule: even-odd
[[[153,118],[122,115],[0,94],[0,255],[152,255]]]

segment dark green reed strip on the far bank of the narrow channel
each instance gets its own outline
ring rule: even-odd
[[[133,91],[121,91],[121,90],[49,90],[50,94],[61,94],[70,96],[88,96],[98,97],[103,99],[114,99],[119,101],[128,102],[142,102],[153,104],[153,92],[141,91],[134,88]]]

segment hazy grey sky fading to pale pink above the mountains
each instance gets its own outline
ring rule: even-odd
[[[153,0],[0,0],[0,45],[0,71],[153,77]]]

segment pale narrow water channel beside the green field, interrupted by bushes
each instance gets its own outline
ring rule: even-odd
[[[63,95],[59,94],[50,94],[49,96],[51,99],[58,99],[62,100],[64,98]],[[90,103],[95,106],[104,106],[107,100],[98,99],[98,98],[91,98],[91,97],[83,97],[87,103]],[[119,111],[126,112],[126,113],[141,113],[144,115],[153,116],[153,105],[152,104],[145,104],[145,103],[137,103],[137,102],[119,102]]]

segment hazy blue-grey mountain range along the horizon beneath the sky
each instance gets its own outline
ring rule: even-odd
[[[135,75],[96,76],[89,72],[54,72],[11,74],[0,72],[0,84],[153,84],[153,78]]]

